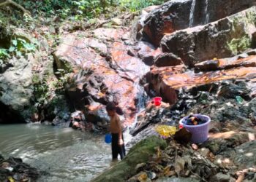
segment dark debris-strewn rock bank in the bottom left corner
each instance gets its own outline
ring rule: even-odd
[[[0,154],[0,181],[36,181],[39,171],[20,158],[4,159]]]

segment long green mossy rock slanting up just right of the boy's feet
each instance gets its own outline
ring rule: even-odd
[[[126,181],[128,178],[132,177],[132,175],[135,175],[136,165],[148,162],[148,159],[150,159],[150,157],[155,153],[155,148],[157,146],[161,149],[165,149],[167,144],[162,140],[162,138],[157,136],[151,136],[140,141],[129,150],[129,154],[127,154],[121,162],[118,162],[117,165],[106,170],[92,181]]]

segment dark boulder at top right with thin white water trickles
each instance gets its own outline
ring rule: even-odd
[[[204,25],[252,7],[255,1],[245,0],[175,0],[168,1],[148,15],[143,35],[159,45],[165,34],[195,25]]]

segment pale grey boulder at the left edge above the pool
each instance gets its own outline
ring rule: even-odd
[[[0,74],[0,122],[24,122],[34,100],[32,64],[34,57],[13,58],[12,67]],[[2,112],[3,111],[3,112]]]

